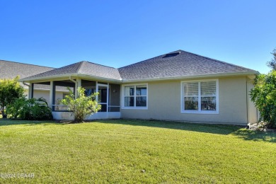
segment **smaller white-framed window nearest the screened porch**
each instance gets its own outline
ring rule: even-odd
[[[147,108],[147,84],[122,86],[122,108]]]

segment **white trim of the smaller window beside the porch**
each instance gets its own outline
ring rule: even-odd
[[[134,87],[134,104],[136,102],[136,86],[146,86],[146,107],[125,107],[125,86],[135,86]],[[148,106],[149,106],[149,103],[148,103],[148,100],[149,100],[149,86],[147,83],[142,83],[142,84],[123,84],[122,85],[122,88],[121,88],[121,91],[122,91],[122,96],[121,96],[121,99],[122,99],[122,109],[140,109],[140,110],[147,110],[148,109]]]

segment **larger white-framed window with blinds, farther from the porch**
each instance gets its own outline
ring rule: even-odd
[[[218,80],[183,81],[182,113],[218,113]]]

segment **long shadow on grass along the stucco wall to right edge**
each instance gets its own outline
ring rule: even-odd
[[[210,134],[233,134],[244,140],[276,142],[276,132],[259,132],[246,130],[245,127],[235,125],[210,125],[188,122],[168,122],[158,120],[97,120],[97,122],[132,126],[159,127],[174,130],[203,132]]]

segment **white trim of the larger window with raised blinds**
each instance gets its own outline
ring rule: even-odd
[[[216,110],[215,111],[208,111],[208,110],[201,110],[201,104],[199,104],[198,110],[185,110],[184,108],[184,83],[188,82],[204,82],[204,81],[216,81]],[[219,114],[219,79],[204,79],[204,80],[190,80],[190,81],[181,81],[181,107],[180,113],[184,114]],[[198,86],[200,88],[200,86]],[[200,99],[200,90],[198,99]]]

